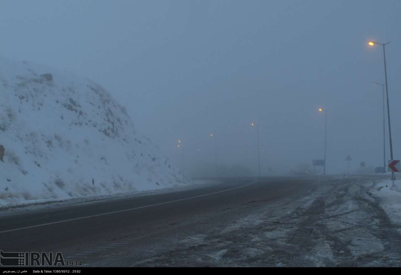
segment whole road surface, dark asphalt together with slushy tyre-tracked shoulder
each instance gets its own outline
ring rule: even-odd
[[[227,178],[183,191],[0,216],[0,249],[62,252],[65,260],[96,267],[358,266],[372,259],[386,265],[388,253],[401,254],[394,245],[401,236],[366,194],[367,181]],[[367,249],[377,256],[367,257]]]

